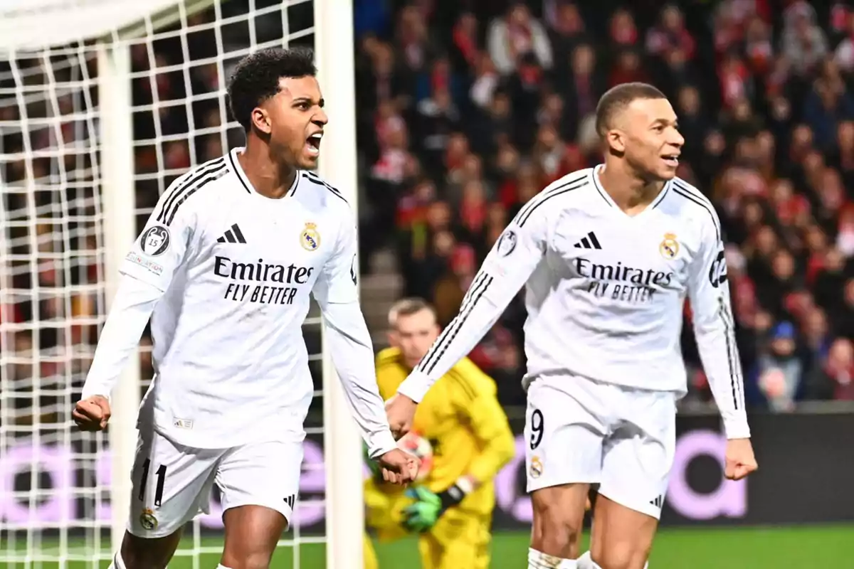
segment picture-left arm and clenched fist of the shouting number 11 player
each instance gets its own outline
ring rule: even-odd
[[[215,176],[224,169],[224,162],[218,165],[214,161],[199,170]],[[110,392],[136,349],[157,301],[184,262],[195,218],[189,207],[179,207],[180,195],[197,172],[178,178],[161,195],[145,229],[121,265],[122,276],[113,306],[98,338],[82,399],[73,411],[74,420],[84,430],[97,431],[107,426]]]

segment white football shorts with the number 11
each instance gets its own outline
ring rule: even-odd
[[[301,465],[301,442],[194,449],[174,444],[154,429],[141,430],[127,529],[138,537],[171,535],[201,512],[210,512],[214,484],[222,494],[223,512],[238,506],[265,506],[280,512],[290,524]]]

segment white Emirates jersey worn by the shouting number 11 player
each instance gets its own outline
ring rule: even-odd
[[[355,316],[344,319],[358,322],[336,322],[336,329],[349,327],[342,342],[361,352],[342,357],[358,362],[364,369],[353,374],[376,386],[370,336],[356,304],[350,206],[308,171],[297,172],[282,199],[258,194],[237,160],[241,150],[178,178],[121,268],[162,291],[151,316],[155,378],[140,427],[153,422],[158,432],[196,448],[304,436],[314,388],[301,327],[312,293],[323,310],[352,308],[345,314]],[[99,351],[107,361],[104,335],[106,328]],[[84,397],[108,392],[114,370],[96,365],[98,356]],[[369,446],[394,448],[378,392],[356,391],[351,403],[371,407],[361,409],[372,414],[362,426],[383,439]]]

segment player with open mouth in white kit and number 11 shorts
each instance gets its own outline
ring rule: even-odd
[[[353,415],[384,479],[417,462],[397,449],[357,300],[353,212],[316,166],[327,123],[312,53],[249,55],[228,85],[246,148],[179,177],[121,269],[73,416],[98,430],[151,316],[155,378],[140,406],[131,520],[115,569],[166,567],[181,528],[223,498],[220,566],[268,566],[293,514],[313,382],[302,339],[317,299]],[[134,364],[135,365],[135,364]]]

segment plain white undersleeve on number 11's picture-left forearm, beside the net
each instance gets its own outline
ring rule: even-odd
[[[113,307],[98,339],[95,358],[86,375],[83,398],[93,395],[109,398],[162,295],[159,288],[146,282],[132,276],[121,277]]]

